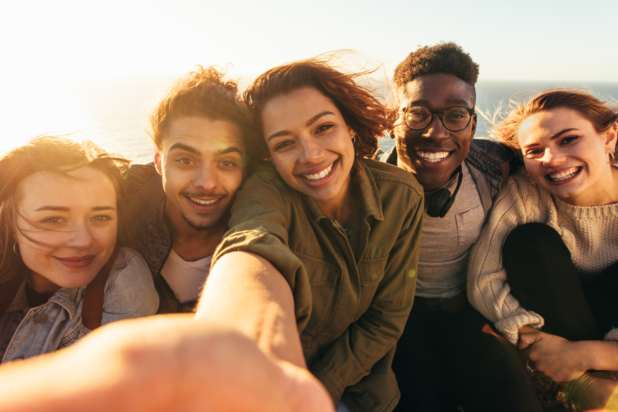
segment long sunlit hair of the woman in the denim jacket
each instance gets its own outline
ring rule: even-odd
[[[0,284],[25,275],[28,271],[22,258],[13,251],[17,233],[31,242],[40,243],[28,237],[17,225],[17,217],[21,216],[17,206],[22,198],[18,188],[23,179],[36,172],[67,175],[81,167],[92,167],[111,180],[116,190],[116,198],[120,200],[124,194],[122,172],[127,170],[129,165],[129,159],[108,153],[90,140],[62,135],[32,138],[0,159]],[[117,204],[120,204],[120,201]],[[38,227],[34,222],[30,223]]]

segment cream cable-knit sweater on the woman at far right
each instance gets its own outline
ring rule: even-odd
[[[504,182],[468,263],[470,303],[512,343],[517,343],[520,327],[541,327],[544,321],[510,294],[502,245],[511,230],[529,222],[556,229],[583,282],[618,261],[618,204],[572,206],[528,183],[527,175],[522,167]],[[611,330],[606,339],[618,340],[618,329]]]

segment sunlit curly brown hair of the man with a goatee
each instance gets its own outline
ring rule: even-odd
[[[218,66],[202,67],[177,78],[156,96],[148,114],[148,134],[161,151],[169,125],[180,117],[227,120],[240,127],[245,141],[252,133],[245,104],[238,93],[238,82],[223,77]]]

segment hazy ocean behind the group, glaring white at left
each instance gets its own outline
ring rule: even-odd
[[[135,162],[148,162],[153,158],[150,138],[143,130],[148,105],[169,81],[171,77],[82,80],[50,88],[36,101],[29,100],[28,106],[19,99],[9,103],[4,99],[0,104],[0,154],[41,133],[76,133]],[[586,87],[601,99],[618,99],[618,83],[481,80],[476,85],[476,107],[491,116],[515,93],[558,86]],[[476,137],[488,137],[489,128],[491,124],[479,115]],[[380,145],[386,150],[393,143],[381,139]]]

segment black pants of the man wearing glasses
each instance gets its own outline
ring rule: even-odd
[[[392,362],[395,411],[455,412],[460,403],[466,412],[541,412],[519,352],[489,325],[465,292],[415,298]]]

